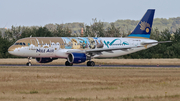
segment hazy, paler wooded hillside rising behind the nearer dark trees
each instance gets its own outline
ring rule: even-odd
[[[92,19],[91,25],[94,24],[94,22],[98,22],[96,18]],[[99,21],[100,22],[100,21]],[[103,29],[108,29],[108,27],[111,27],[111,24],[114,24],[115,27],[119,28],[119,30],[122,33],[129,33],[131,32],[139,20],[117,20],[115,22],[109,23],[109,22],[103,22]],[[72,31],[72,34],[80,34],[81,28],[83,26],[87,26],[85,23],[81,22],[73,22],[73,23],[65,23],[61,24],[64,27],[69,27]],[[47,24],[45,25],[50,30],[56,29],[57,24]],[[153,21],[153,29],[158,28],[159,31],[163,31],[165,28],[168,28],[170,31],[175,32],[176,29],[180,28],[180,17],[176,18],[155,18]]]

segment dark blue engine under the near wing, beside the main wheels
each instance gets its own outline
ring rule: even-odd
[[[85,53],[70,53],[67,60],[70,63],[82,63],[86,61],[86,58]]]

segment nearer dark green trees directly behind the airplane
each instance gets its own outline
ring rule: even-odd
[[[116,27],[115,23],[111,23],[109,27],[104,28],[104,23],[93,20],[91,25],[81,25],[83,28],[83,37],[126,37],[131,32],[125,33]],[[80,37],[79,34],[72,34],[72,30],[63,24],[56,24],[53,28],[49,26],[44,27],[25,27],[12,26],[10,29],[0,31],[0,58],[16,58],[8,53],[8,48],[18,39],[25,37]],[[152,29],[151,39],[157,41],[172,41],[171,43],[158,44],[155,47],[142,50],[133,54],[124,55],[118,58],[128,59],[145,59],[145,58],[180,58],[180,28],[175,31],[164,29],[159,31],[157,28]]]

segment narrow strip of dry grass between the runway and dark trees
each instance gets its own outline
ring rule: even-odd
[[[180,59],[92,59],[96,65],[180,65]],[[0,59],[0,64],[26,64],[27,58],[23,59]],[[66,59],[57,59],[47,64],[64,65]],[[41,65],[32,59],[32,64]],[[81,63],[78,65],[86,65]]]

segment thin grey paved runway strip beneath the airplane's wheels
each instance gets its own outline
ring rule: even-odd
[[[0,64],[0,66],[2,67],[29,67],[23,64]],[[91,67],[91,66],[86,66],[86,65],[73,65],[73,66],[65,66],[65,65],[53,65],[53,64],[35,64],[32,65],[31,67]],[[169,67],[176,67],[176,68],[180,68],[180,65],[95,65],[93,67],[161,67],[161,68],[169,68]]]

